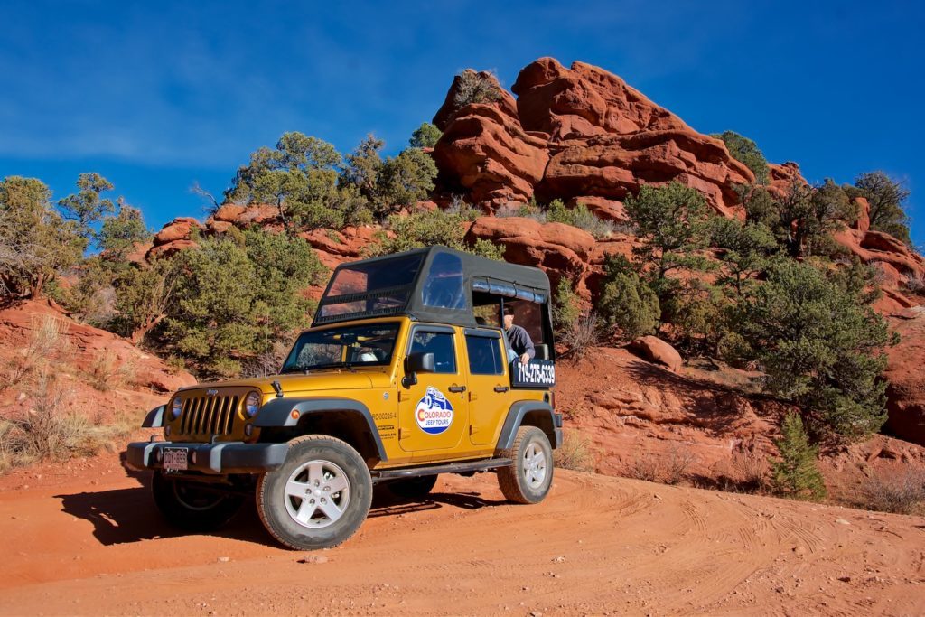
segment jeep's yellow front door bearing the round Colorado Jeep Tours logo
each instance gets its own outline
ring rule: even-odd
[[[401,387],[399,443],[413,458],[447,453],[469,429],[465,369],[456,330],[446,326],[412,328],[406,356],[433,353],[433,373],[418,373],[417,383]]]

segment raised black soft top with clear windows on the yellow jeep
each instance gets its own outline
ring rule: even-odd
[[[549,277],[445,246],[432,246],[341,264],[327,283],[313,326],[386,315],[408,315],[475,327],[473,294],[546,304]]]

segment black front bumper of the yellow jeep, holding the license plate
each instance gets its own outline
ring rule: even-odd
[[[203,474],[260,474],[277,469],[286,461],[289,444],[183,443],[173,441],[135,441],[126,450],[126,463],[134,469],[162,469],[165,448],[186,448],[188,471]]]

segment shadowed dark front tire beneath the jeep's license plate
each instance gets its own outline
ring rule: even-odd
[[[169,479],[157,470],[151,482],[154,504],[166,522],[186,531],[214,531],[240,510],[244,498],[198,487],[189,480]]]

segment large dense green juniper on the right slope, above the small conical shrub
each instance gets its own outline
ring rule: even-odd
[[[810,412],[821,430],[860,438],[886,419],[883,348],[894,342],[862,277],[778,259],[739,304],[736,331],[767,388]]]

